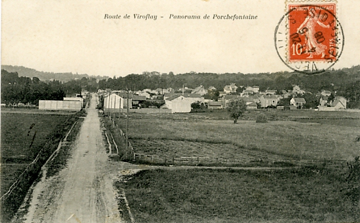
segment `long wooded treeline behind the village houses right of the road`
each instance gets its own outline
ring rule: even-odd
[[[360,66],[331,70],[317,75],[304,75],[296,72],[276,73],[170,73],[143,72],[132,73],[125,77],[108,78],[99,81],[99,89],[131,89],[138,91],[143,89],[173,88],[180,89],[187,86],[191,89],[203,85],[205,88],[215,86],[223,91],[224,86],[235,83],[237,86],[260,87],[260,91],[267,89],[292,90],[293,84],[299,85],[304,91],[316,94],[322,90],[331,91],[336,95],[344,96],[349,100],[350,108],[360,108]]]

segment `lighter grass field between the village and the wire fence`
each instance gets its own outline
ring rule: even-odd
[[[241,120],[238,124],[232,124],[230,119],[192,119],[189,118],[193,116],[191,113],[179,114],[188,119],[161,119],[163,116],[141,115],[142,118],[130,118],[129,136],[135,152],[152,155],[187,156],[189,152],[196,152],[198,156],[234,156],[241,154],[241,150],[261,151],[266,156],[275,154],[292,159],[350,160],[359,155],[360,144],[356,138],[360,134],[360,119],[325,119],[340,117],[344,112],[337,115],[328,112],[309,114],[328,116],[311,120],[269,121],[266,124]],[[119,123],[121,129],[125,130],[125,119],[120,119]],[[174,144],[173,141],[178,142]],[[209,151],[209,146],[191,145],[193,141],[215,145],[210,149],[213,151]],[[217,147],[217,143],[231,146]],[[229,153],[231,150],[232,153]]]

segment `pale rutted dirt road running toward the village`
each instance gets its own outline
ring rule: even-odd
[[[108,162],[96,104],[93,95],[68,167],[34,187],[25,222],[123,222],[112,187],[119,167]]]

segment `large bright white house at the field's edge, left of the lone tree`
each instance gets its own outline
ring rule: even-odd
[[[165,99],[165,104],[160,108],[169,108],[171,113],[189,113],[194,102],[204,102],[204,97],[198,94],[176,94]]]

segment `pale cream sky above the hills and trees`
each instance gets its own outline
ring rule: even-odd
[[[340,69],[360,64],[360,1],[337,2],[345,36],[334,66]],[[106,14],[121,19],[105,19]],[[157,18],[134,19],[134,14]],[[201,19],[170,19],[171,14]],[[206,14],[210,19],[203,19]],[[214,14],[257,19],[213,19]],[[2,0],[1,64],[110,77],[290,71],[274,47],[274,30],[284,14],[284,0]]]

